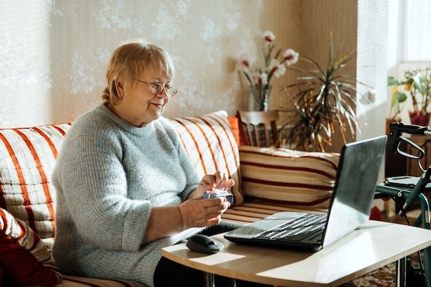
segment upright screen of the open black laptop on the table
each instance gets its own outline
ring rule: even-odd
[[[341,149],[323,246],[368,220],[385,146],[386,136],[381,136]]]

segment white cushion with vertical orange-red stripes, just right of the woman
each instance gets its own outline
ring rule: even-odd
[[[226,111],[215,111],[203,116],[171,118],[180,135],[198,176],[222,171],[235,181],[229,189],[233,206],[244,201],[240,182],[240,156]]]

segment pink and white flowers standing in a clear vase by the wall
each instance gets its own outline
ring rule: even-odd
[[[263,66],[251,67],[248,59],[240,59],[238,70],[244,74],[251,89],[251,94],[254,100],[254,109],[256,111],[268,111],[269,94],[272,86],[269,84],[271,78],[282,76],[286,72],[286,67],[297,62],[299,54],[295,50],[287,49],[283,52],[282,59],[279,60],[281,49],[277,50],[273,56],[275,44],[273,41],[275,35],[273,32],[266,30],[262,33],[262,54]]]

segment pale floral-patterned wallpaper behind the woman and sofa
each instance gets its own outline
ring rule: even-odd
[[[241,54],[255,54],[263,1],[6,0],[0,12],[0,127],[74,120],[100,103],[122,41],[165,47],[178,95],[165,116],[248,107]],[[246,16],[246,17],[245,17]],[[246,93],[246,91],[245,91]]]

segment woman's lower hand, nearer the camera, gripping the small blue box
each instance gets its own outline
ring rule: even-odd
[[[182,202],[178,207],[182,217],[182,228],[213,226],[231,204],[226,198],[194,198]]]

